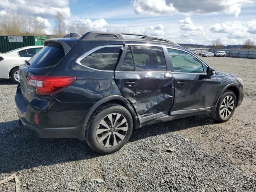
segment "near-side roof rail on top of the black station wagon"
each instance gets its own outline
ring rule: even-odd
[[[133,38],[133,37],[125,37],[125,35],[141,36],[141,37]],[[131,33],[91,31],[91,32],[85,33],[83,36],[80,37],[81,40],[99,40],[101,38],[106,38],[111,40],[132,40],[132,41],[165,43],[165,44],[172,44],[172,45],[179,46],[178,44],[165,38],[159,38],[159,37],[141,35],[141,34],[131,34]]]

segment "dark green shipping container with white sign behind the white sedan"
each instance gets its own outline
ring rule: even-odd
[[[0,52],[5,53],[21,47],[43,45],[47,36],[0,36]]]

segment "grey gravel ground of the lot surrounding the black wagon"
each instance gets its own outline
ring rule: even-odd
[[[0,80],[0,180],[16,173],[21,190],[35,192],[256,191],[256,60],[203,59],[244,80],[244,102],[228,122],[200,115],[145,126],[105,156],[77,139],[28,134],[18,126],[16,85]],[[14,181],[0,185],[14,190]]]

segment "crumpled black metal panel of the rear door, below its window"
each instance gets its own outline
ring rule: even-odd
[[[115,72],[116,84],[132,102],[138,116],[169,113],[174,99],[174,77],[169,72]]]

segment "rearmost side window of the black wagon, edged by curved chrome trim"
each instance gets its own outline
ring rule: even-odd
[[[82,58],[78,63],[97,70],[113,71],[116,67],[121,48],[122,45],[100,48]]]

